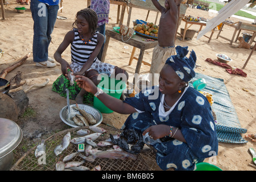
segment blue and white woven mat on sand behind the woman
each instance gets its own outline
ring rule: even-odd
[[[246,133],[247,129],[243,129],[240,125],[224,80],[196,73],[196,77],[189,82],[189,85],[193,86],[193,82],[199,78],[204,78],[207,82],[207,87],[201,91],[212,94],[214,101],[212,110],[216,114],[218,141],[225,143],[246,143],[247,141],[242,138],[241,133]]]

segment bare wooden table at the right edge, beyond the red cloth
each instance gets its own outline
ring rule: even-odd
[[[235,29],[234,33],[233,33],[233,36],[232,36],[232,39],[228,39],[228,38],[220,35],[220,33],[222,31],[222,28],[224,27],[224,24],[226,24],[230,27],[233,27]],[[237,31],[238,31],[238,34],[237,34],[235,42],[237,42],[237,38],[239,37],[239,35],[241,33],[241,30],[246,30],[246,31],[253,32],[253,36],[251,37],[251,40],[250,40],[249,44],[253,43],[253,40],[256,36],[256,25],[255,24],[249,24],[249,23],[243,23],[243,22],[236,22],[236,23],[230,23],[230,22],[226,22],[226,21],[222,22],[222,26],[220,28],[220,31],[218,32],[217,39],[220,37],[222,39],[228,40],[230,42],[230,45],[232,45],[233,42],[234,42],[234,38],[237,34]]]

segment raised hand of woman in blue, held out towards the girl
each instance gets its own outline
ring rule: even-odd
[[[90,80],[89,78],[82,76],[82,75],[76,75],[76,82],[77,85],[84,89],[86,92],[90,92],[92,94],[95,94],[97,92],[97,86]]]

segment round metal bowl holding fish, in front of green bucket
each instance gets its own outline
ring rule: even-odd
[[[98,126],[103,119],[100,111],[84,104],[70,105],[70,114],[68,106],[63,107],[60,110],[60,118],[64,123],[72,127]]]

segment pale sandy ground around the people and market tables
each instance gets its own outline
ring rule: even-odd
[[[32,52],[33,20],[31,18],[30,7],[26,6],[26,13],[19,14],[16,13],[16,10],[14,9],[18,4],[16,4],[15,1],[9,2],[10,5],[5,5],[6,20],[0,20],[0,48],[5,51],[4,56],[0,59],[1,70],[22,59],[27,53]],[[63,4],[63,12],[59,13],[59,16],[65,16],[68,19],[57,19],[56,21],[55,29],[52,34],[53,43],[49,47],[49,56],[51,57],[53,57],[53,53],[55,53],[57,47],[63,40],[64,35],[71,30],[77,11],[85,8],[87,5],[84,0],[77,0],[76,3],[73,3],[71,0],[66,0]],[[125,12],[124,24],[127,22],[127,12],[128,11]],[[131,15],[131,21],[135,19],[146,19],[146,15],[147,10],[134,8]],[[212,18],[214,14],[203,10],[188,8],[186,15]],[[155,16],[155,12],[150,12],[148,22],[155,22]],[[116,20],[117,5],[110,5],[110,19],[106,28],[112,29],[112,27],[117,26],[117,24],[115,24]],[[230,18],[230,20],[237,22],[241,19]],[[242,21],[246,22],[244,20]],[[130,22],[130,26],[132,24],[133,23]],[[181,23],[180,27],[184,27],[184,22]],[[198,30],[199,26],[192,26],[191,29]],[[233,31],[234,29],[232,27],[225,26],[221,35],[232,38]],[[256,60],[255,56],[251,56],[246,68],[243,69],[243,71],[247,73],[246,78],[240,75],[230,75],[224,68],[208,63],[205,59],[216,59],[216,53],[224,53],[233,59],[230,63],[232,67],[242,68],[251,52],[249,49],[234,48],[224,39],[216,39],[217,33],[218,31],[215,32],[210,43],[207,43],[208,39],[205,37],[199,40],[193,38],[192,40],[185,40],[183,42],[180,40],[180,37],[177,36],[176,46],[188,46],[189,49],[195,50],[197,55],[197,65],[200,65],[200,67],[196,68],[196,72],[224,79],[233,105],[237,111],[241,126],[247,129],[247,133],[249,134],[256,133],[256,109],[254,104],[256,68],[253,66]],[[208,32],[207,35],[209,36],[210,32]],[[233,44],[233,46],[237,45],[237,43]],[[118,65],[118,67],[126,69],[127,72],[132,74],[134,73],[137,64],[137,61],[134,60],[130,66],[128,65],[132,49],[133,47],[125,43],[110,39],[105,61],[106,63]],[[135,56],[138,55],[139,50],[137,49]],[[152,49],[148,49],[144,53],[143,60],[151,63],[151,56]],[[63,57],[70,62],[71,53],[69,48],[63,53]],[[148,73],[149,70],[150,67],[142,64],[141,73]],[[51,90],[53,81],[61,75],[60,65],[57,65],[55,68],[35,67],[31,56],[20,67],[8,73],[6,79],[9,80],[18,72],[22,72],[22,78],[23,80],[26,80],[26,84],[23,86],[24,88],[27,88],[32,84],[42,84],[47,78],[50,80],[49,84],[44,88],[35,89],[27,93],[29,106],[36,111],[36,117],[27,119],[25,122],[18,122],[20,127],[22,127],[24,139],[46,138],[51,135],[52,131],[56,132],[68,129],[69,126],[65,125],[59,117],[59,112],[67,105],[67,100]],[[247,89],[249,92],[245,92],[243,89]],[[75,104],[75,102],[71,101],[71,104]],[[103,114],[103,116],[103,121],[105,123],[109,123],[118,128],[122,126],[127,118],[127,115],[118,113]],[[242,134],[243,137],[244,135],[245,134]],[[220,143],[216,166],[223,170],[255,170],[255,168],[249,165],[253,163],[248,149],[249,147],[255,147],[256,143],[251,142],[251,139],[246,140],[248,140],[246,144]],[[205,162],[209,162],[209,159],[206,159]]]

